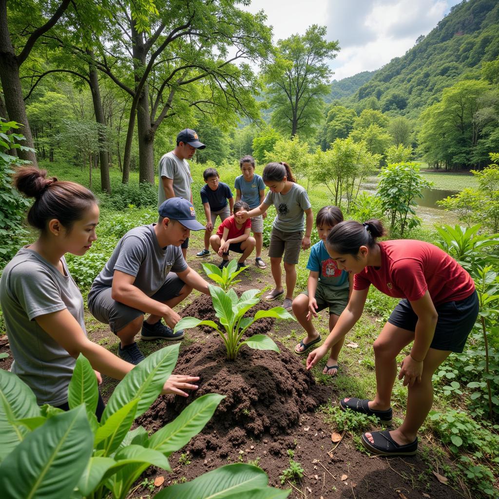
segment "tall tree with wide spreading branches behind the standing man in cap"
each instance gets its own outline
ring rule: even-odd
[[[271,31],[262,12],[250,14],[237,3],[158,0],[154,11],[130,12],[123,5],[117,13],[96,64],[132,97],[123,182],[135,120],[139,181],[153,183],[154,138],[165,118],[175,116],[183,128],[195,123],[195,112],[209,114],[214,123],[236,123],[238,114],[258,119],[258,84],[248,62],[267,56]]]

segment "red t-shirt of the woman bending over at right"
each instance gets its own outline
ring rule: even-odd
[[[355,274],[354,289],[373,284],[388,296],[416,301],[426,290],[434,305],[468,298],[475,290],[470,274],[445,251],[430,243],[394,240],[379,243],[381,266]]]

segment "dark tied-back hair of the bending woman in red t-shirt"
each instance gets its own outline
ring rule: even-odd
[[[331,229],[326,244],[337,253],[355,256],[361,246],[374,248],[376,240],[385,234],[386,231],[379,220],[369,220],[363,224],[347,220]]]

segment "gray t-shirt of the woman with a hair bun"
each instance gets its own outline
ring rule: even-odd
[[[33,320],[67,310],[86,334],[83,298],[61,258],[65,275],[36,251],[21,248],[0,279],[0,304],[14,357],[10,370],[33,391],[39,405],[67,402],[75,359]]]

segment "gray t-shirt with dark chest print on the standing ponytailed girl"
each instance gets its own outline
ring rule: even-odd
[[[303,211],[312,206],[307,191],[294,182],[287,194],[269,191],[263,202],[275,206],[277,216],[272,226],[282,232],[302,231]]]

